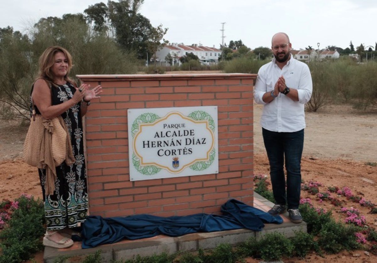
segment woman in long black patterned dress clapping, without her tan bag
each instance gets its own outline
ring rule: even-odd
[[[82,117],[90,100],[99,98],[101,86],[90,89],[83,84],[79,88],[69,79],[72,57],[62,47],[47,48],[39,59],[39,74],[32,88],[32,101],[37,114],[45,119],[59,115],[64,119],[75,162],[63,162],[56,167],[55,190],[46,194],[46,169],[38,169],[44,200],[47,231],[43,245],[68,248],[73,245],[69,237],[73,229],[87,215],[87,178],[83,149]],[[69,236],[69,237],[68,237]]]

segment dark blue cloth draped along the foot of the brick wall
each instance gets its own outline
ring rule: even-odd
[[[221,206],[222,215],[195,214],[161,217],[132,215],[102,218],[88,216],[82,224],[82,248],[135,240],[164,234],[170,237],[197,232],[215,232],[240,228],[262,231],[264,223],[282,224],[280,216],[270,214],[231,199]]]

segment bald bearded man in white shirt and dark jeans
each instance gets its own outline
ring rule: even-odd
[[[263,104],[262,135],[270,162],[270,177],[276,204],[268,211],[279,215],[287,210],[290,220],[302,222],[298,210],[301,192],[301,156],[304,142],[304,104],[313,90],[307,64],[293,58],[286,33],[272,38],[274,59],[258,72],[254,100]],[[285,189],[284,162],[287,171]]]

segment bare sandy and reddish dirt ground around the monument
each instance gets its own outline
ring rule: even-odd
[[[254,174],[268,175],[268,160],[265,155],[261,127],[261,105],[254,106]],[[305,182],[316,181],[322,184],[320,192],[329,186],[349,187],[354,195],[362,196],[367,201],[377,204],[375,195],[377,182],[377,112],[358,113],[350,106],[328,106],[319,112],[307,112],[305,144],[302,159],[302,178]],[[20,127],[16,122],[0,123],[0,200],[13,200],[21,193],[41,197],[37,169],[22,162],[23,140],[27,127]],[[334,207],[328,201],[320,203],[316,196],[302,191],[302,198],[311,198],[315,207],[334,209],[333,215],[344,219],[340,207]],[[377,227],[377,215],[368,214],[370,208],[352,203],[345,198],[342,206],[354,207],[366,217],[369,226]],[[35,257],[37,262],[41,254]],[[43,257],[42,257],[43,258]],[[248,259],[249,263],[261,260]],[[305,259],[283,260],[285,263],[297,262],[377,262],[377,256],[363,250],[325,258],[316,254]]]

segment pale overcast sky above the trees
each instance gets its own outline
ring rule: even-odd
[[[2,0],[4,2],[5,0]],[[100,0],[12,0],[2,3],[0,27],[25,32],[42,17],[83,13]],[[107,3],[107,1],[102,1]],[[276,32],[290,36],[294,49],[308,45],[375,47],[377,0],[144,0],[139,12],[152,26],[169,30],[169,42],[219,47],[239,40],[250,48],[270,47]]]

